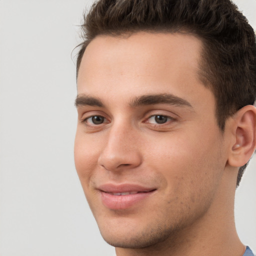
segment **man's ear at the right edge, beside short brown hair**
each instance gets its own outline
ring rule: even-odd
[[[233,116],[233,140],[228,157],[231,166],[244,165],[256,148],[256,107],[246,105]]]

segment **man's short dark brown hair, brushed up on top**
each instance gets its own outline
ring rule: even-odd
[[[225,120],[256,97],[255,34],[230,0],[99,0],[84,15],[76,75],[97,35],[186,31],[203,42],[201,78],[213,91],[216,119]],[[247,164],[239,168],[238,186]]]

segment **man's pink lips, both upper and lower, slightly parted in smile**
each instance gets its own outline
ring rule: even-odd
[[[137,184],[103,184],[97,189],[100,191],[103,205],[109,209],[126,209],[134,206],[156,190]]]

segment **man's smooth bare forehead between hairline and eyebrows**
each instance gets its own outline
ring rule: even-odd
[[[125,97],[166,92],[179,96],[183,91],[196,100],[201,96],[197,86],[203,86],[198,74],[201,49],[200,39],[180,32],[97,36],[80,63],[78,94],[113,97],[119,90]]]

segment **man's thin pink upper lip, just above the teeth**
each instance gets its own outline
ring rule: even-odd
[[[137,191],[137,192],[149,192],[155,190],[154,187],[147,187],[139,184],[112,184],[112,183],[105,183],[99,185],[97,187],[98,190],[107,193],[122,193],[122,192],[130,192],[130,191]]]

